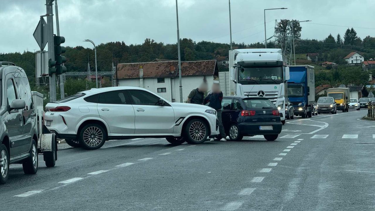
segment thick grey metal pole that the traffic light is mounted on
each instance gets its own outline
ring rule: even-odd
[[[46,0],[46,15],[47,15],[47,31],[48,31],[48,59],[55,60],[55,49],[53,39],[53,9],[52,3],[54,0]],[[56,75],[49,75],[49,101],[56,101]]]

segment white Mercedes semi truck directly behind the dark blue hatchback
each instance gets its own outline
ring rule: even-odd
[[[285,124],[285,90],[289,67],[281,49],[229,50],[230,94],[268,98]]]

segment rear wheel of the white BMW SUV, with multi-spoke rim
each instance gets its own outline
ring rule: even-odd
[[[88,124],[82,128],[79,140],[82,148],[84,149],[99,149],[107,140],[107,132],[101,125]]]

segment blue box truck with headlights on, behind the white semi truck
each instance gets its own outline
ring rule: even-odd
[[[293,104],[294,115],[302,116],[302,118],[315,115],[314,66],[291,65],[289,74],[287,96]]]

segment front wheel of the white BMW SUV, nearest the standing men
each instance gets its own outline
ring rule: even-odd
[[[205,142],[209,128],[201,119],[192,119],[187,122],[184,128],[184,139],[189,144],[199,144]]]

